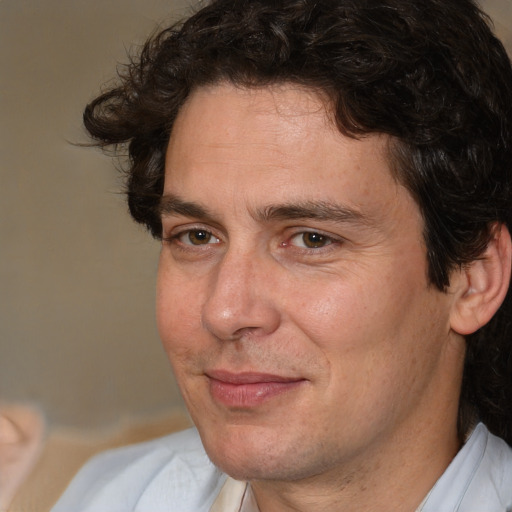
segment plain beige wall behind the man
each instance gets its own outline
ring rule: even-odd
[[[512,0],[484,3],[512,46]],[[154,327],[158,244],[81,110],[125,46],[186,1],[0,0],[0,396],[54,425],[179,404]]]

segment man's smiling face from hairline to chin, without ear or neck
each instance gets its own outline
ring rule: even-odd
[[[362,470],[456,410],[452,298],[428,285],[388,142],[342,136],[294,86],[200,88],[178,116],[158,324],[235,478]]]

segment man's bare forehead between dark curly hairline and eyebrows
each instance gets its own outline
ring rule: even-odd
[[[211,202],[219,193],[255,208],[267,200],[342,201],[355,210],[373,197],[385,207],[408,195],[391,173],[389,144],[385,135],[341,134],[313,90],[202,87],[176,119],[164,194]]]

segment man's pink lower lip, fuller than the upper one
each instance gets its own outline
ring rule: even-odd
[[[248,409],[292,391],[303,382],[303,380],[296,380],[233,384],[210,378],[210,393],[215,401],[226,407]]]

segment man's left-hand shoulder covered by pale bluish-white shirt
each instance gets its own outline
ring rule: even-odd
[[[52,512],[200,512],[224,480],[189,429],[92,458]]]

